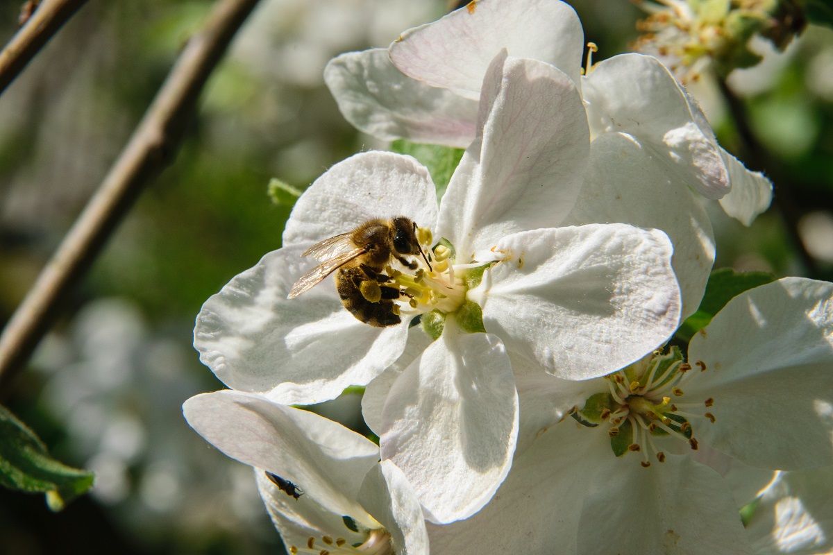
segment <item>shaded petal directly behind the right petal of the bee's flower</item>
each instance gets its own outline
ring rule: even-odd
[[[685,320],[706,290],[715,239],[701,203],[674,180],[631,136],[606,133],[591,143],[586,181],[565,224],[621,222],[665,231],[674,245],[671,265],[680,282]]]

